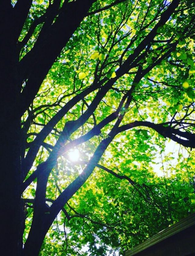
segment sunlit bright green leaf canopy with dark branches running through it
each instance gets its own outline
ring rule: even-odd
[[[33,1],[18,42],[24,249],[44,230],[40,255],[122,253],[195,210],[194,2],[85,1],[73,28],[80,2]]]

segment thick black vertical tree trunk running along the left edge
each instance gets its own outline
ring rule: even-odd
[[[8,30],[9,32],[9,30]],[[1,159],[1,255],[19,256],[22,249],[21,119],[17,58],[9,37],[1,48],[0,159]],[[3,40],[2,40],[3,41]]]

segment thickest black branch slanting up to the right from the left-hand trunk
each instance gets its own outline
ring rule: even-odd
[[[28,79],[20,97],[20,116],[33,101],[55,59],[80,25],[94,1],[77,0],[71,2],[71,5],[65,5],[66,8],[62,7],[55,23],[41,33],[34,47],[20,61],[23,76],[21,81]],[[69,25],[66,26],[66,24]]]

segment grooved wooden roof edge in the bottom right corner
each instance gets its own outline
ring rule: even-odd
[[[126,251],[125,256],[195,255],[195,213],[162,230],[144,243]]]

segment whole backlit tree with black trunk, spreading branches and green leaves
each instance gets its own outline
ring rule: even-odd
[[[156,216],[161,206],[162,218],[170,221],[167,209],[170,213],[188,201],[183,214],[193,211],[193,155],[187,162],[182,156],[178,160],[188,176],[178,171],[175,180],[169,178],[172,197],[178,199],[178,191],[191,197],[177,206],[168,202],[162,207],[167,199],[159,198],[168,196],[167,186],[158,187],[160,178],[149,166],[159,147],[164,150],[164,138],[195,148],[193,9],[190,0],[1,3],[1,242],[6,255],[38,255],[40,250],[45,255],[44,238],[53,222],[58,226],[60,212],[65,226],[72,219],[74,227],[87,220],[99,225],[94,233],[101,236],[106,229],[109,234],[117,225],[112,219],[118,219],[111,210],[122,209],[128,195],[137,202],[134,213],[142,211],[139,216],[149,214],[148,204]],[[73,165],[68,153],[76,154],[75,148],[82,158],[75,155]],[[86,214],[87,207],[94,210],[91,195],[96,193],[86,183],[90,176],[97,188],[106,184],[107,196],[101,201],[97,192],[96,200],[101,199],[102,211],[110,211],[109,224],[100,214],[99,221]],[[122,193],[116,178],[122,180]],[[127,183],[131,186],[125,190]],[[120,217],[131,222],[129,209],[121,211]],[[161,221],[157,226],[162,227]],[[117,232],[122,241],[122,231]],[[95,248],[93,239],[90,249]],[[102,239],[111,243],[106,236]],[[105,253],[105,247],[96,249],[97,255]]]

